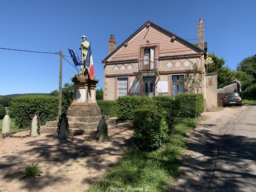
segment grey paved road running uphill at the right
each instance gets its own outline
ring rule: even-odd
[[[256,106],[207,112],[169,191],[256,191]]]

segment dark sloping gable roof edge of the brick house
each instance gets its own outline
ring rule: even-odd
[[[140,30],[142,30],[148,23],[150,24],[150,26],[151,26],[151,25],[154,25],[156,28],[159,28],[160,30],[165,31],[167,34],[170,34],[170,35],[172,35],[172,36],[175,36],[175,38],[180,39],[180,40],[183,41],[184,43],[187,43],[187,44],[189,44],[190,46],[196,48],[197,50],[200,50],[200,51],[203,51],[204,53],[206,53],[205,50],[200,49],[200,48],[199,48],[198,46],[196,46],[195,44],[192,44],[192,43],[186,41],[185,39],[182,39],[181,37],[179,37],[179,36],[173,34],[172,32],[170,32],[170,31],[168,31],[168,30],[166,30],[166,29],[164,29],[164,28],[162,28],[162,27],[156,25],[155,23],[151,22],[150,20],[148,20],[148,21],[147,21],[146,23],[144,23],[139,29],[137,29],[134,33],[132,33],[132,35],[129,36],[123,43],[121,43],[111,54],[109,54],[106,58],[104,58],[104,59],[102,60],[102,62],[105,61],[105,60],[107,60],[107,59],[109,59],[112,55],[114,55],[114,54],[125,44],[125,42],[129,41],[130,39],[132,39],[132,38],[133,38]]]

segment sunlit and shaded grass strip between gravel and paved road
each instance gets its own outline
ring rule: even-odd
[[[165,191],[177,177],[180,166],[178,158],[185,150],[185,135],[196,127],[197,119],[178,118],[171,135],[165,138],[165,144],[153,152],[142,152],[137,147],[128,149],[125,156],[89,189],[105,191],[109,186],[128,189],[144,188],[148,191]]]

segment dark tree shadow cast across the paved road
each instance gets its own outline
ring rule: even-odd
[[[246,186],[256,189],[256,173],[251,169],[256,163],[255,138],[230,134],[219,136],[207,130],[194,130],[188,138],[190,154],[181,159],[185,167],[179,173],[182,180],[174,183],[168,191],[243,191]],[[196,144],[193,140],[197,141]],[[194,158],[192,152],[199,155]]]

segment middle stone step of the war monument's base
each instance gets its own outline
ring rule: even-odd
[[[96,122],[72,122],[69,121],[69,127],[70,128],[80,128],[80,129],[96,129],[99,125],[99,121]],[[107,120],[108,125],[113,125],[117,123],[116,119],[109,119]],[[45,122],[46,127],[58,127],[58,121],[46,121]]]

